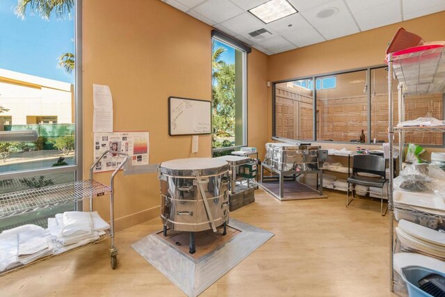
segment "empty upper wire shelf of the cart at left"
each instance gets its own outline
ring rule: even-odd
[[[94,198],[110,193],[111,188],[95,180],[32,188],[0,195],[0,218],[24,214],[83,198]]]

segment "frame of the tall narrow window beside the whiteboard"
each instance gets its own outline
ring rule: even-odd
[[[243,144],[242,145],[234,145],[232,147],[218,147],[213,148],[213,144],[211,145],[211,152],[224,152],[227,150],[238,150],[241,147],[246,147],[248,145],[248,75],[247,75],[247,69],[248,69],[248,54],[252,51],[251,48],[241,47],[242,42],[238,42],[238,40],[234,40],[234,38],[230,38],[229,36],[225,36],[225,34],[220,33],[219,31],[213,30],[212,31],[212,40],[218,40],[218,42],[225,43],[229,47],[233,47],[234,49],[238,49],[239,51],[243,52]],[[239,45],[237,45],[239,43]],[[211,49],[211,56],[213,54],[213,49]],[[213,71],[213,68],[211,69]],[[211,84],[211,88],[213,89],[213,83]],[[211,102],[213,102],[213,97],[211,98]],[[213,113],[211,115],[211,131],[213,131]],[[213,133],[212,133],[213,135]],[[213,143],[213,136],[212,136],[212,143]]]

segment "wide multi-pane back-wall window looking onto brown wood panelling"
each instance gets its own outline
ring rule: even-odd
[[[316,81],[314,90],[314,83]],[[375,67],[275,83],[274,136],[303,141],[387,142],[388,71]],[[394,123],[398,90],[393,83]],[[315,99],[315,100],[314,100]],[[316,104],[314,104],[316,102]],[[405,120],[444,118],[442,94],[405,98]],[[314,118],[316,120],[314,121]],[[316,133],[314,133],[316,131]],[[394,134],[396,141],[398,134]],[[444,145],[442,133],[406,133],[405,142]]]

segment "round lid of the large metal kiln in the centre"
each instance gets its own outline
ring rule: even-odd
[[[227,161],[216,158],[189,158],[165,161],[159,171],[165,175],[193,177],[220,175],[229,170]]]

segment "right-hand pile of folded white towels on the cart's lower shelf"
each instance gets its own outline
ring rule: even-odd
[[[55,253],[65,252],[76,246],[99,239],[110,225],[97,211],[65,211],[48,218],[48,230],[54,242]]]

